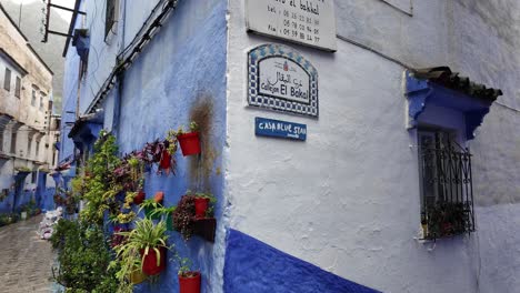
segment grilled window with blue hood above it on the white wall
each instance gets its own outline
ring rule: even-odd
[[[407,72],[407,127],[417,133],[424,239],[474,231],[472,155],[467,142],[501,94],[446,67]]]

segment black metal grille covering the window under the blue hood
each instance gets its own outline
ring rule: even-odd
[[[419,135],[421,225],[424,239],[474,231],[471,153],[446,132]]]

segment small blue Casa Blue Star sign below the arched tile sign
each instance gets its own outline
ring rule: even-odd
[[[304,141],[307,140],[307,125],[257,117],[254,118],[254,134]]]

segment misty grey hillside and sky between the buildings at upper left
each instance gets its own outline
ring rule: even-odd
[[[9,16],[14,20],[16,23],[19,21],[20,4],[11,2],[10,0],[0,0],[3,8],[8,11]],[[72,2],[72,1],[71,1]],[[52,92],[54,97],[54,111],[61,113],[61,98],[63,89],[63,65],[64,59],[61,57],[63,47],[66,43],[64,37],[49,34],[47,43],[42,43],[43,39],[40,28],[43,28],[41,23],[43,18],[44,8],[42,1],[27,3],[22,6],[20,29],[23,34],[29,39],[32,48],[38,54],[46,61],[46,63],[54,72]],[[50,19],[51,29],[56,31],[67,32],[69,30],[69,21],[64,21],[57,13],[51,12]]]

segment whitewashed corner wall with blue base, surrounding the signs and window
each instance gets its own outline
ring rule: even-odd
[[[317,273],[296,270],[304,264],[293,256],[383,292],[517,291],[520,39],[513,19],[520,7],[512,0],[411,1],[408,10],[403,2],[336,1],[338,51],[328,53],[247,33],[243,1],[230,1],[224,289],[241,283],[243,291],[264,292],[273,269],[286,285],[276,292],[334,292],[327,291],[329,281],[292,291],[291,284]],[[247,52],[263,43],[290,46],[317,68],[318,120],[248,108]],[[478,232],[433,249],[414,240],[418,155],[406,129],[403,72],[436,65],[504,95],[469,142]],[[257,138],[256,117],[307,124],[307,142]],[[257,243],[249,259],[236,257],[247,253],[239,245],[243,235]],[[291,265],[269,267],[261,259],[272,249],[287,253]],[[257,270],[240,263],[251,259]],[[247,270],[254,273],[238,275]]]

